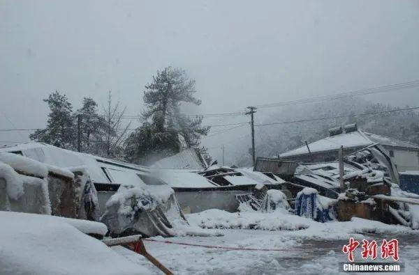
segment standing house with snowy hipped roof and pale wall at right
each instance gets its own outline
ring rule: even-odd
[[[380,145],[388,151],[397,171],[419,171],[418,145],[363,132],[355,124],[330,129],[325,139],[284,152],[279,158],[300,162],[332,162],[338,158],[341,146],[344,146],[344,155],[349,155],[374,145]]]

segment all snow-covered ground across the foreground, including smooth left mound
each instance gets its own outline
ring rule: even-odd
[[[284,209],[207,210],[186,218],[191,226],[216,227],[208,229],[213,236],[144,241],[149,253],[175,274],[337,274],[339,262],[347,262],[341,249],[349,237],[375,239],[378,244],[384,238],[399,239],[406,274],[419,274],[419,230],[404,226],[358,218],[318,223]],[[16,212],[0,212],[0,221],[0,274],[161,274],[143,256],[122,246],[110,249],[80,231],[103,233],[100,223]],[[222,235],[215,237],[217,233]],[[358,249],[355,260],[360,259]]]

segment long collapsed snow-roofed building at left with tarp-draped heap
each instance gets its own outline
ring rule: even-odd
[[[47,171],[38,177],[43,179],[43,188],[48,190],[45,201],[51,206],[46,209],[51,211],[29,212],[102,221],[114,236],[135,232],[145,236],[191,233],[193,228],[189,228],[184,212],[212,208],[235,212],[240,205],[238,195],[249,193],[261,183],[270,189],[279,189],[284,182],[272,173],[208,166],[197,150],[185,150],[161,159],[152,167],[64,150],[45,143],[0,148],[0,154],[14,156],[22,163],[36,163],[41,167],[38,167],[39,171]],[[31,173],[34,172],[29,171]],[[59,182],[64,183],[60,185]],[[4,186],[10,187],[10,181]],[[34,192],[27,194],[35,201],[38,198]],[[20,210],[7,210],[28,212],[25,207],[27,205]]]

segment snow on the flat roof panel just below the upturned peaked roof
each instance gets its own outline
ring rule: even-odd
[[[207,178],[190,171],[161,169],[153,171],[152,175],[166,182],[170,187],[184,187],[184,188],[205,188],[214,187]]]

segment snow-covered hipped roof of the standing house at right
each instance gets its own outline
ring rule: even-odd
[[[419,146],[406,141],[399,141],[385,136],[378,136],[377,134],[369,134],[360,130],[349,133],[337,134],[335,136],[328,136],[325,139],[309,143],[311,152],[325,152],[331,150],[338,150],[341,146],[344,148],[363,148],[371,146],[375,143],[380,143],[383,146],[396,146],[402,148],[411,148],[419,150]],[[290,157],[294,155],[308,154],[307,146],[284,152],[279,157]]]

